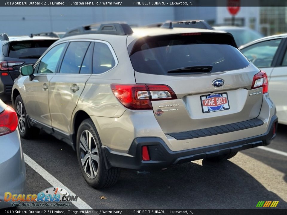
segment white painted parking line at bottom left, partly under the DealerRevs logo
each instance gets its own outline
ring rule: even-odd
[[[39,164],[37,164],[33,159],[31,159],[28,155],[24,154],[25,162],[39,175],[41,175],[47,182],[49,182],[53,187],[61,187],[65,188],[68,191],[70,191],[70,195],[76,195],[73,193],[70,189],[68,189],[65,185],[63,185],[61,182],[59,182],[54,176],[52,176],[50,173],[48,173],[44,168],[42,168]],[[92,209],[86,202],[84,202],[79,196],[77,199],[77,202],[71,202],[74,204],[77,208],[80,209]]]

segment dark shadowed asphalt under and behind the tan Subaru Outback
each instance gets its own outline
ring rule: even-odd
[[[231,161],[203,160],[140,173],[122,169],[114,186],[96,190],[85,182],[76,153],[64,142],[41,132],[38,139],[23,140],[22,147],[92,208],[256,208],[258,201],[279,201],[277,208],[287,208],[283,199]],[[100,200],[103,195],[107,200]]]

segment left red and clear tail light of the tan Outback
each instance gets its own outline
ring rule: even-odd
[[[167,85],[111,84],[117,99],[132,110],[152,110],[152,100],[177,99]]]

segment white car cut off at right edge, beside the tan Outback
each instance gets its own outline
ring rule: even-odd
[[[278,123],[287,125],[287,34],[264,37],[239,47],[268,76],[268,92],[276,105]]]

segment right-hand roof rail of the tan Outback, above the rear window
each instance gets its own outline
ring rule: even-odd
[[[213,30],[213,28],[207,24],[204,20],[190,20],[190,21],[175,21],[175,22],[166,22],[162,28],[201,28]]]

